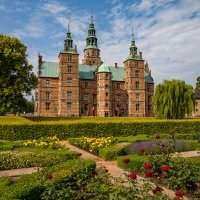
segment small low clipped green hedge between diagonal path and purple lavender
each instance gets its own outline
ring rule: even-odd
[[[114,160],[117,156],[126,155],[125,147],[127,143],[119,143],[100,149],[99,156],[105,160]]]

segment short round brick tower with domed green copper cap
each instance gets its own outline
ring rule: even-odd
[[[97,115],[108,117],[112,115],[111,90],[112,74],[109,67],[102,64],[97,72]]]

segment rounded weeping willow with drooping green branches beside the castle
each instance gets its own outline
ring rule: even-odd
[[[153,108],[157,117],[182,119],[192,114],[194,105],[193,87],[184,81],[167,80],[156,87]]]

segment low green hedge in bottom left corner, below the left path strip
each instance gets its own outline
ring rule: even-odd
[[[25,175],[12,181],[3,179],[0,183],[0,200],[36,200],[48,187],[72,179],[74,176],[85,176],[95,170],[95,163],[86,160],[69,160],[43,171]],[[2,180],[2,179],[0,179]]]

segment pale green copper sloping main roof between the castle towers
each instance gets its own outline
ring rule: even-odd
[[[103,64],[105,65],[105,64]],[[111,65],[101,65],[98,72],[106,70],[112,73],[113,81],[124,81],[124,67],[123,66],[111,66]],[[102,67],[103,66],[103,67]],[[58,78],[59,65],[57,62],[43,62],[41,66],[40,77],[53,77]],[[80,79],[92,80],[95,78],[95,73],[97,71],[97,65],[85,65],[79,64],[79,77]],[[153,78],[150,74],[145,72],[145,82],[153,83]]]

